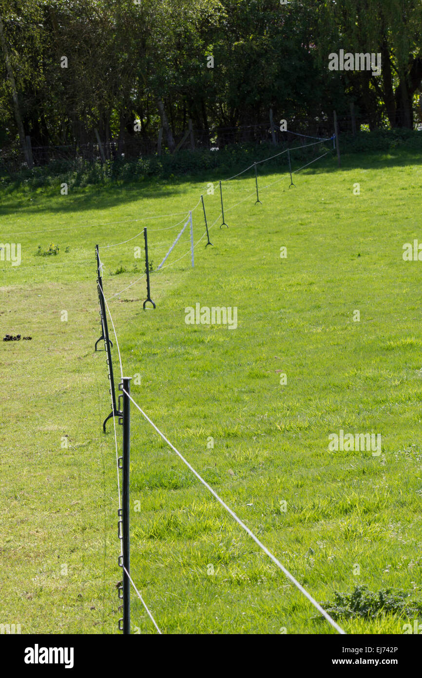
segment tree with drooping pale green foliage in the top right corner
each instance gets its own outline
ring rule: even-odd
[[[368,115],[376,117],[381,103],[392,127],[413,129],[413,99],[422,81],[422,0],[337,0],[315,8],[324,58],[335,47],[381,54],[381,78],[349,76]]]

